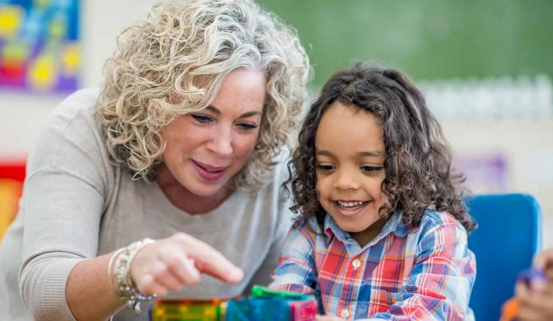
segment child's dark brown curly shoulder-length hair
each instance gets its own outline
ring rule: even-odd
[[[389,204],[379,215],[403,212],[405,224],[419,225],[425,208],[453,214],[467,231],[476,227],[461,199],[465,177],[453,171],[452,153],[424,97],[403,73],[357,64],[327,81],[311,105],[288,164],[294,213],[323,222],[325,210],[316,191],[315,134],[322,115],[335,101],[353,105],[379,119],[384,130],[386,177],[382,191]]]

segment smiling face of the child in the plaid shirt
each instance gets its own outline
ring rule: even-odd
[[[383,129],[372,113],[340,102],[322,115],[315,136],[317,192],[321,206],[362,246],[384,222],[387,197]]]

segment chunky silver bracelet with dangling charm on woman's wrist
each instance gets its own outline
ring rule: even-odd
[[[117,285],[116,292],[119,298],[127,301],[127,305],[137,314],[141,312],[141,301],[151,301],[157,296],[155,294],[153,296],[145,296],[134,286],[131,278],[131,263],[138,250],[152,243],[154,243],[154,240],[148,238],[134,242],[127,246],[127,248],[124,248],[115,261],[113,274]]]

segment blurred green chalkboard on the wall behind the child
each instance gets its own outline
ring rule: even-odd
[[[553,0],[258,0],[298,30],[319,86],[353,61],[416,79],[553,75]]]

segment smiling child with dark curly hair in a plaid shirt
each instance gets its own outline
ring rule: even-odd
[[[315,293],[320,320],[471,320],[475,223],[420,91],[356,65],[322,88],[290,161],[293,211],[270,285]]]

